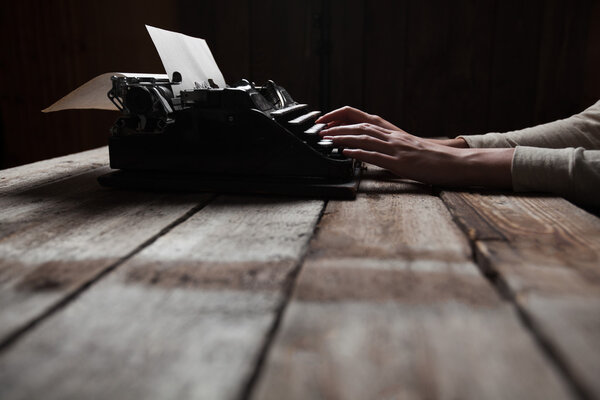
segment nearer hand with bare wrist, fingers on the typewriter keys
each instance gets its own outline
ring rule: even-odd
[[[360,123],[321,131],[343,153],[402,177],[441,186],[510,188],[514,149],[463,149],[401,129]]]

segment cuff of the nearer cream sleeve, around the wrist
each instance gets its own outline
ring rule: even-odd
[[[571,192],[573,148],[517,146],[511,163],[515,192]]]

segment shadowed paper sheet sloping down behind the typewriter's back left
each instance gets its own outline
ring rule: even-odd
[[[164,74],[138,74],[130,72],[108,72],[99,75],[79,86],[71,93],[45,108],[42,112],[52,112],[69,109],[93,108],[97,110],[117,110],[117,107],[110,101],[107,96],[108,91],[112,88],[111,76],[137,76],[139,78],[168,78]]]

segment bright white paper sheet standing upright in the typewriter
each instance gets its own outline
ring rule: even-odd
[[[202,84],[208,79],[219,87],[225,87],[223,74],[204,39],[148,25],[146,29],[169,77],[177,71],[183,78],[181,84],[173,86],[175,95],[181,90],[193,89],[196,82]]]

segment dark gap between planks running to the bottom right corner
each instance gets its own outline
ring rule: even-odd
[[[585,384],[579,381],[577,375],[568,366],[568,363],[561,357],[560,352],[552,344],[546,335],[543,334],[542,329],[535,323],[535,321],[529,316],[527,310],[525,310],[517,301],[516,293],[510,288],[510,285],[504,279],[504,276],[496,271],[491,265],[485,254],[478,248],[478,243],[484,242],[508,242],[501,232],[493,230],[491,226],[486,226],[482,237],[477,237],[473,232],[470,232],[469,227],[463,221],[460,221],[459,216],[452,209],[450,203],[441,195],[441,190],[434,191],[434,195],[440,198],[444,206],[448,209],[452,219],[456,225],[460,228],[460,231],[465,235],[469,246],[471,248],[471,257],[473,263],[479,268],[481,274],[489,281],[490,285],[497,291],[498,295],[506,302],[510,303],[511,306],[516,310],[519,320],[523,328],[530,334],[533,341],[536,343],[541,353],[548,359],[548,361],[556,368],[559,374],[562,375],[564,381],[569,385],[569,389],[572,393],[582,400],[592,400],[594,396],[585,388]],[[478,215],[481,221],[486,221],[479,212],[468,204],[462,204],[467,207],[471,213]],[[492,229],[492,235],[487,235],[487,229]]]

